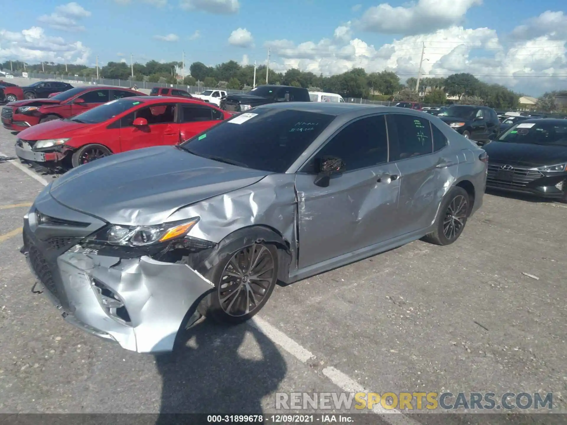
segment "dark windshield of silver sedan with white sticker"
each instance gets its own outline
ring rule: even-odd
[[[181,144],[194,155],[274,173],[284,173],[335,116],[255,109],[240,113]]]

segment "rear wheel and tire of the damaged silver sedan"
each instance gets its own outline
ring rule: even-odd
[[[471,213],[470,209],[471,202],[467,191],[459,186],[452,188],[441,202],[435,230],[425,235],[424,240],[435,245],[454,243],[463,233]]]

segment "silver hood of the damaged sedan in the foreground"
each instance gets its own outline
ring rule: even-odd
[[[219,163],[175,146],[124,152],[53,182],[58,202],[113,224],[161,224],[179,208],[251,185],[269,172]],[[204,217],[203,219],[206,219]]]

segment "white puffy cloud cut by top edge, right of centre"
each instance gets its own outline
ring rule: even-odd
[[[365,31],[414,35],[459,24],[469,8],[483,0],[418,0],[408,6],[380,3],[367,9],[357,22]]]

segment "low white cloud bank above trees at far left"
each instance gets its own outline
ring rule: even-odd
[[[87,65],[91,49],[81,41],[67,42],[62,37],[51,37],[41,27],[21,32],[0,29],[0,61],[6,59],[26,62],[59,62]]]

